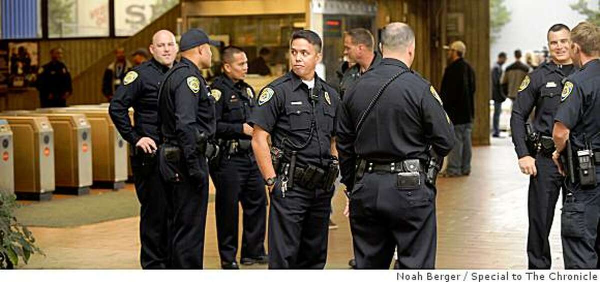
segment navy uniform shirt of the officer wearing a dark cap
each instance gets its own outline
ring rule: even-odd
[[[214,137],[215,100],[191,60],[182,57],[165,75],[158,96],[160,134],[183,150],[190,175],[203,172],[196,150],[197,134]]]

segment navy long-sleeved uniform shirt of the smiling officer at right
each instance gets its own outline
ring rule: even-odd
[[[525,123],[535,107],[533,130],[541,135],[552,136],[554,115],[560,104],[562,81],[575,72],[573,65],[544,63],[531,72],[521,82],[517,99],[512,105],[511,129],[512,142],[520,159],[529,156],[525,143]],[[535,156],[533,156],[535,157]]]

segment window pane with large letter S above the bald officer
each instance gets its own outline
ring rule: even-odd
[[[115,1],[115,35],[136,34],[178,3],[179,0]]]

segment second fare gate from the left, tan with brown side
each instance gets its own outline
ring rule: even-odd
[[[46,117],[7,116],[13,131],[17,199],[49,200],[55,189],[54,131]]]

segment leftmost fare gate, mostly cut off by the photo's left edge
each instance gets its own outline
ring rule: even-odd
[[[14,194],[13,131],[0,119],[0,191]]]

